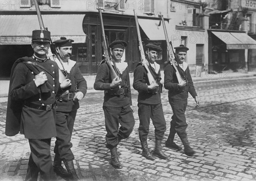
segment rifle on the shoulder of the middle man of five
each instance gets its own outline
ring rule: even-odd
[[[105,61],[108,64],[108,67],[110,69],[111,79],[113,80],[114,78],[116,78],[116,81],[119,81],[119,80],[121,80],[120,72],[119,72],[118,68],[116,68],[115,61],[113,61],[113,59],[110,56],[111,53],[108,49],[108,37],[105,36],[105,30],[104,30],[103,19],[102,19],[102,11],[101,11],[101,8],[99,8],[98,3],[97,3],[97,6],[98,6],[98,11],[99,11],[100,25],[101,25],[101,29],[102,29],[102,44],[103,44],[103,49],[104,49]],[[112,66],[111,62],[114,67]]]

